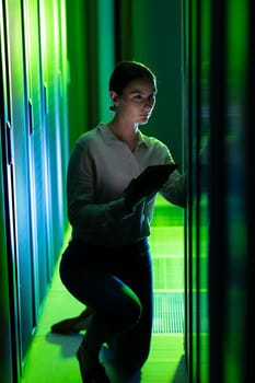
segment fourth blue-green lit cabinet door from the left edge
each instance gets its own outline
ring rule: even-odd
[[[59,15],[56,1],[39,2],[42,68],[45,94],[48,207],[50,214],[50,267],[54,269],[63,239],[63,185],[59,117]]]

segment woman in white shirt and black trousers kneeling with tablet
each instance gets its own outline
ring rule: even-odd
[[[91,320],[77,352],[83,382],[107,383],[98,353],[107,344],[127,374],[146,362],[152,329],[152,270],[148,237],[154,199],[185,206],[185,176],[136,179],[150,165],[173,164],[169,149],[147,137],[157,79],[144,65],[124,61],[109,79],[113,119],[84,134],[71,154],[68,217],[72,239],[60,277],[89,309]],[[86,316],[81,314],[80,321]],[[76,322],[76,320],[74,320]],[[79,327],[79,321],[77,330]],[[74,327],[73,327],[74,328]]]

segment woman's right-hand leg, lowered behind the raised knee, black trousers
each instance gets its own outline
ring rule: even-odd
[[[150,247],[147,241],[135,247],[132,254],[123,254],[121,280],[139,298],[142,314],[136,326],[117,334],[108,341],[109,349],[124,370],[132,374],[144,364],[151,344],[152,330],[152,266]],[[125,259],[125,260],[124,260]]]

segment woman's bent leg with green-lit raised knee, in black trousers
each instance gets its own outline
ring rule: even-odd
[[[111,252],[72,241],[62,256],[60,277],[67,289],[82,303],[95,310],[82,340],[93,356],[109,338],[135,326],[141,304],[134,291],[108,271]],[[112,269],[115,269],[113,265]],[[94,359],[95,360],[95,359]]]

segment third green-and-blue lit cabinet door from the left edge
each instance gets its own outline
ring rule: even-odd
[[[48,258],[49,216],[47,213],[45,119],[38,3],[36,0],[25,0],[23,2],[23,25],[27,83],[25,107],[28,115],[28,161],[34,255],[33,270],[36,315],[38,315],[39,306],[45,298],[50,276]]]

